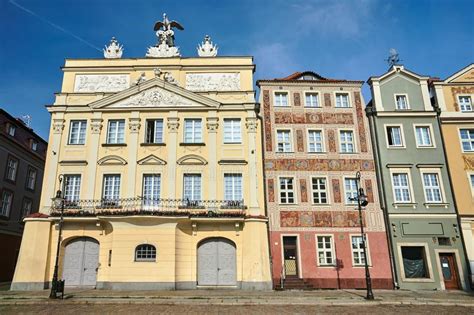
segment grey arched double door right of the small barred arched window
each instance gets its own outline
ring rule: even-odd
[[[198,285],[233,286],[237,284],[234,242],[208,238],[198,245]]]

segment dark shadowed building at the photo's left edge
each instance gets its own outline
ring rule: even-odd
[[[37,212],[47,142],[0,109],[0,282],[11,281],[23,218]]]

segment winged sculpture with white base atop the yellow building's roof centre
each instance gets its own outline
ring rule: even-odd
[[[166,13],[163,14],[163,21],[156,22],[154,27],[156,36],[158,37],[158,44],[156,46],[148,47],[146,53],[147,57],[168,58],[181,56],[179,47],[175,47],[174,45],[173,28],[184,30],[181,24],[176,21],[170,21],[166,16]]]

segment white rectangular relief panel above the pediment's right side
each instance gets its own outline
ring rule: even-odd
[[[240,73],[187,73],[190,91],[240,91]]]

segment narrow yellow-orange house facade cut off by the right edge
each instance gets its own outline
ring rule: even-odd
[[[474,283],[474,64],[431,83]]]

